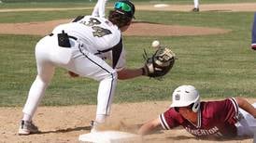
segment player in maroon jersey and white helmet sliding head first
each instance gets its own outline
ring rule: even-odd
[[[181,85],[172,98],[170,108],[144,123],[138,134],[147,135],[161,126],[165,130],[183,126],[193,136],[204,138],[252,137],[256,133],[256,103],[251,105],[242,97],[204,102],[194,86]]]

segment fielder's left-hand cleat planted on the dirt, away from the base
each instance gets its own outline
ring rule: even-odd
[[[19,135],[29,135],[36,133],[39,133],[39,130],[34,123],[21,120],[19,127]]]

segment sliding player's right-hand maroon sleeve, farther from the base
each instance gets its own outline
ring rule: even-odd
[[[227,98],[221,101],[209,102],[207,115],[213,116],[215,121],[235,123],[238,115],[238,104],[235,98]]]

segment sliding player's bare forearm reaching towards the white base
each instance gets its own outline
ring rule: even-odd
[[[144,123],[139,129],[137,134],[147,135],[161,125],[159,118],[153,119],[148,123]]]

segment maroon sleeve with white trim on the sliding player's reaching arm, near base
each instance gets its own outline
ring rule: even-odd
[[[176,110],[170,108],[159,115],[160,123],[165,130],[177,127],[183,122],[183,118],[178,114]]]

